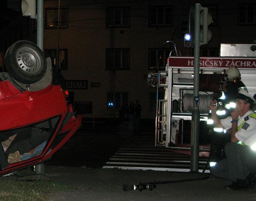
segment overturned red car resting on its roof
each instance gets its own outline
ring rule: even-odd
[[[0,73],[0,175],[49,159],[82,120],[61,75],[35,44],[12,44],[5,68]]]

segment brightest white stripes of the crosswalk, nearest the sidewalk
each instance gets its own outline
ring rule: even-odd
[[[210,172],[208,157],[199,157],[199,171]],[[166,148],[121,147],[110,157],[103,168],[151,169],[158,171],[190,171],[190,155]]]

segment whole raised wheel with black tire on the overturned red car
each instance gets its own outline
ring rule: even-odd
[[[14,80],[22,84],[33,84],[41,80],[47,70],[46,58],[36,44],[20,40],[6,51],[5,67]]]

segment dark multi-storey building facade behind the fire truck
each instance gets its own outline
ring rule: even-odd
[[[139,100],[141,117],[154,119],[156,88],[148,86],[148,73],[165,69],[174,49],[164,47],[166,41],[193,56],[184,34],[195,3],[212,15],[212,38],[200,47],[201,56],[219,56],[221,43],[256,40],[252,0],[60,0],[59,15],[58,0],[44,0],[44,52],[54,64],[59,52],[58,68],[76,109],[84,117],[117,118],[122,105]]]

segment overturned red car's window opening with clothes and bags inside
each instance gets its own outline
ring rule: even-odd
[[[0,141],[8,163],[40,155],[52,137],[59,119],[59,116],[53,117],[26,127],[0,131]]]

